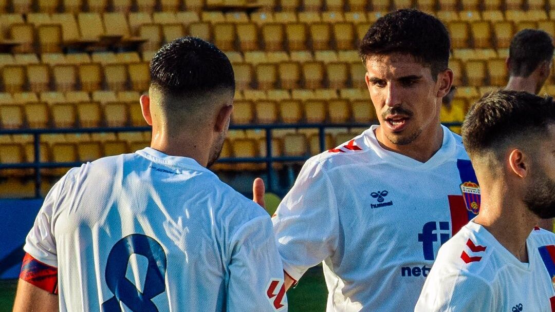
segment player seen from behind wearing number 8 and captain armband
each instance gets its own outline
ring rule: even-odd
[[[151,146],[56,183],[27,236],[14,311],[287,309],[268,213],[206,168],[233,109],[229,59],[176,39],[150,78]]]

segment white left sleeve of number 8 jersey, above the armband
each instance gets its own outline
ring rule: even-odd
[[[48,192],[37,218],[27,234],[23,249],[34,259],[51,267],[58,267],[56,252],[56,239],[53,234],[53,215],[58,204],[62,186],[67,179],[67,174],[60,179]]]

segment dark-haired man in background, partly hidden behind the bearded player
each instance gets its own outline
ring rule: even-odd
[[[538,94],[551,72],[553,38],[543,30],[523,29],[514,35],[509,47],[506,90]],[[553,231],[553,219],[541,219],[539,227]]]

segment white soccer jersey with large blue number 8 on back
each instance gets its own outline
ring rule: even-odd
[[[61,311],[285,311],[270,216],[191,158],[147,147],[70,170],[24,247]]]

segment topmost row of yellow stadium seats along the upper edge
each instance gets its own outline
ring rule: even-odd
[[[12,2],[12,3],[9,3]],[[12,0],[0,3],[0,12],[129,12],[129,11],[201,11],[222,6],[258,8],[282,11],[321,11],[322,9],[351,11],[388,11],[417,7],[424,11],[436,9],[543,9],[555,7],[553,0]]]

